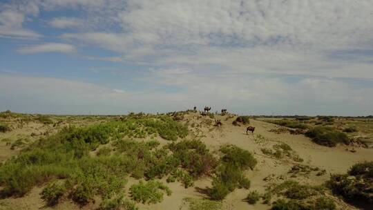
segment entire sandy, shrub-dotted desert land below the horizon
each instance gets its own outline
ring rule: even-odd
[[[372,116],[5,111],[0,124],[0,209],[373,208]]]

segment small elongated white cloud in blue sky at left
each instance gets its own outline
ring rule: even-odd
[[[75,53],[76,48],[70,44],[61,43],[45,43],[34,46],[25,46],[17,49],[21,54],[35,54],[35,53]]]

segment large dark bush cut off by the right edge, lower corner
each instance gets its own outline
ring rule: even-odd
[[[327,187],[347,201],[373,204],[373,162],[354,164],[347,174],[331,175]]]

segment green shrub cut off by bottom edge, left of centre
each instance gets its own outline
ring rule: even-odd
[[[136,204],[124,198],[124,195],[116,195],[113,198],[105,199],[99,205],[100,210],[138,210]]]

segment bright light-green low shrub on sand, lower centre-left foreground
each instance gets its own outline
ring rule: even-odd
[[[149,182],[140,181],[139,184],[133,184],[130,188],[131,196],[136,202],[157,203],[163,200],[163,191],[171,195],[171,190],[161,182],[151,180]]]

